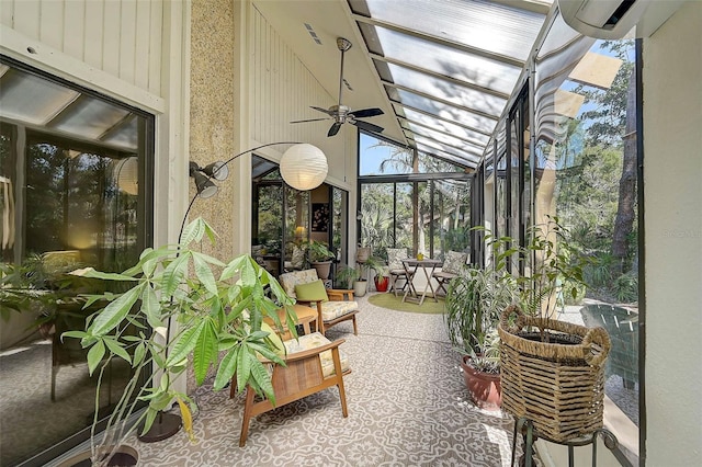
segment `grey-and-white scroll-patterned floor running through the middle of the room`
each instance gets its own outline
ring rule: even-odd
[[[183,432],[152,444],[132,438],[139,465],[508,466],[513,421],[469,401],[443,317],[359,303],[358,337],[348,322],[327,332],[346,339],[351,362],[347,419],[338,390],[327,389],[256,417],[240,448],[244,398],[206,384],[194,395],[197,442]]]

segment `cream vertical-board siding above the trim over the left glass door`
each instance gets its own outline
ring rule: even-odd
[[[163,3],[2,0],[0,23],[67,57],[161,95]]]

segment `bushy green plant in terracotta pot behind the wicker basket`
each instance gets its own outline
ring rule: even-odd
[[[500,407],[497,323],[517,297],[517,282],[501,262],[495,269],[464,269],[449,283],[444,314],[449,339],[463,355],[471,398],[484,409]]]

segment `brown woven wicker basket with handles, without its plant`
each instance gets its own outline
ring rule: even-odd
[[[510,306],[498,332],[502,410],[531,420],[540,436],[556,443],[602,428],[604,329],[529,317]]]

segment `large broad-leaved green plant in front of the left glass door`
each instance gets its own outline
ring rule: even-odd
[[[98,391],[111,360],[127,361],[134,372],[100,436],[95,433],[95,414],[92,465],[106,465],[131,433],[137,429],[141,434],[148,432],[173,401],[192,438],[194,401],[172,387],[189,363],[199,385],[216,367],[215,390],[230,381],[239,391],[250,385],[274,403],[270,376],[258,356],[279,364],[282,360],[269,337],[272,330],[262,320],[270,317],[280,327],[276,310],[285,306],[286,327],[294,332],[294,311],[287,308],[292,299],[248,254],[224,263],[190,249],[191,243],[196,246],[204,237],[212,240],[214,235],[204,220],[196,219],[183,229],[180,244],[146,249],[137,264],[123,273],[92,269],[73,272],[128,284],[121,294],[88,296],[87,306],[97,301],[107,305],[88,318],[84,331],[61,335],[64,340],[80,340],[88,350],[89,371],[99,374]],[[276,301],[268,298],[263,292],[267,287]],[[137,332],[127,332],[135,327]],[[97,403],[99,399],[98,395]],[[139,411],[145,405],[146,410]]]

